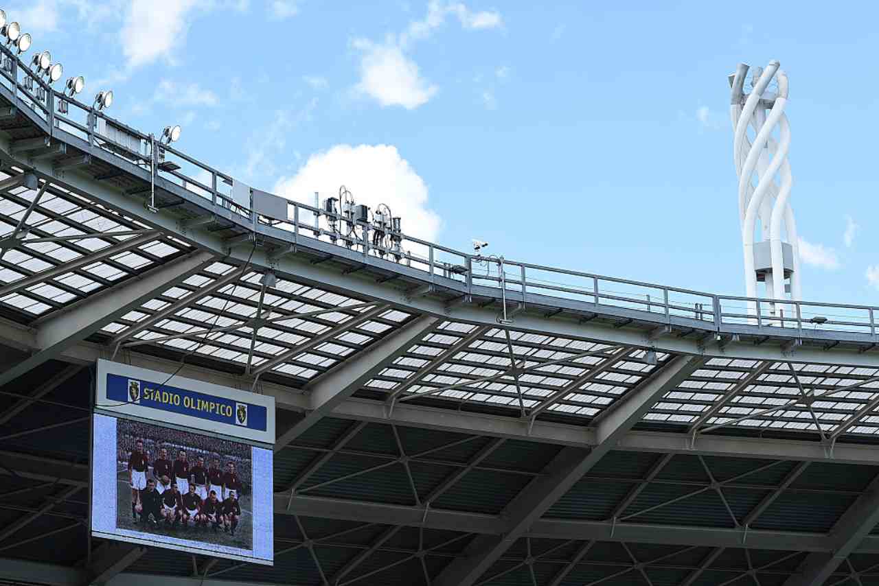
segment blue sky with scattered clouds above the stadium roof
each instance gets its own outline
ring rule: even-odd
[[[467,250],[742,293],[729,86],[790,77],[806,299],[879,303],[875,8],[782,3],[6,6],[112,113],[253,186],[345,184]],[[659,4],[663,4],[661,7]],[[872,277],[872,279],[871,279]]]

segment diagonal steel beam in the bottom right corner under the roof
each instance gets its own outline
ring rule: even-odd
[[[831,551],[810,553],[784,586],[822,586],[879,523],[879,476],[833,525]]]

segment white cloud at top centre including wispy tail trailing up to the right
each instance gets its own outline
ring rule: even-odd
[[[433,1],[427,6],[425,18],[413,20],[398,36],[388,35],[381,43],[367,39],[353,41],[352,46],[361,52],[360,82],[354,89],[382,106],[400,105],[412,110],[426,104],[439,88],[421,76],[418,63],[407,51],[413,41],[428,38],[450,15],[469,30],[502,25],[497,11],[473,12],[461,3]]]

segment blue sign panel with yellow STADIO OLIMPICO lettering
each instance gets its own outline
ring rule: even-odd
[[[120,374],[106,374],[106,398],[122,404],[161,409],[249,430],[266,431],[268,425],[265,405],[170,387],[152,380]],[[98,404],[98,408],[100,407],[113,405]]]

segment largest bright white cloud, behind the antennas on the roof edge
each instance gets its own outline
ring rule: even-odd
[[[341,184],[357,203],[372,209],[389,206],[403,219],[404,233],[437,239],[441,221],[428,207],[427,185],[392,145],[337,145],[309,156],[293,177],[281,178],[272,191],[313,205],[314,192],[329,197],[338,193]]]

